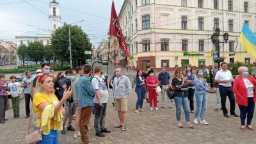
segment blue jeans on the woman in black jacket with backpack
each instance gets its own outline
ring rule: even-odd
[[[184,97],[184,95],[182,95],[182,97],[175,95],[174,102],[176,106],[177,121],[180,121],[180,113],[181,113],[181,105],[182,105],[185,112],[186,121],[189,122],[190,114],[189,114],[189,106],[188,106],[188,97]]]

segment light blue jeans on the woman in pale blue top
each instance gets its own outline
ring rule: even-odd
[[[196,95],[196,112],[195,112],[195,118],[198,117],[199,112],[201,111],[200,118],[204,120],[205,111],[207,109],[207,95],[206,93],[202,93],[199,95]]]

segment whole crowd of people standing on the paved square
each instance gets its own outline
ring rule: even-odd
[[[225,106],[228,97],[230,100],[230,115],[240,117],[241,130],[244,131],[246,127],[253,130],[251,124],[256,101],[256,78],[249,76],[247,67],[239,67],[239,76],[235,80],[225,62],[221,63],[219,70],[214,72],[214,69],[210,68],[207,71],[210,75],[210,86],[203,77],[204,69],[198,68],[193,72],[191,65],[188,65],[185,70],[176,68],[172,80],[164,67],[161,68],[158,77],[153,68],[148,68],[146,72],[141,69],[138,70],[135,77],[135,92],[138,100],[134,112],[144,112],[143,100],[147,94],[150,110],[159,110],[157,108],[157,87],[161,88],[161,93],[159,93],[161,94],[161,108],[165,108],[166,90],[171,87],[175,92],[177,126],[183,128],[180,118],[181,108],[183,107],[186,127],[194,129],[191,124],[191,113],[195,114],[194,124],[198,124],[199,115],[200,124],[209,124],[205,120],[207,92],[210,87],[210,92],[213,93],[214,87],[216,87],[214,110],[218,111],[221,105],[223,116],[229,118]],[[0,74],[0,124],[4,124],[7,120],[5,110],[8,95],[12,98],[13,118],[20,118],[19,100],[21,91],[24,90],[25,118],[29,118],[34,111],[36,113],[35,129],[41,129],[42,131],[43,140],[38,143],[58,143],[58,131],[61,134],[66,134],[65,125],[67,121],[67,131],[74,132],[74,138],[81,137],[83,143],[90,143],[87,132],[90,131],[88,125],[92,114],[95,116],[95,136],[104,137],[104,133],[111,132],[105,127],[109,99],[108,88],[111,88],[114,97],[113,106],[115,106],[119,118],[115,128],[120,128],[121,131],[126,130],[127,99],[131,92],[131,82],[124,75],[122,68],[116,68],[109,84],[106,81],[108,74],[104,73],[100,66],[95,68],[92,68],[91,65],[76,67],[76,76],[70,69],[66,70],[65,73],[59,72],[54,75],[50,65],[45,63],[41,69],[36,70],[37,76],[31,76],[31,72],[28,70],[25,74],[26,77],[21,84],[15,82],[15,76],[10,77],[11,83],[8,84],[5,81],[4,74]],[[234,86],[231,85],[232,83],[234,83]],[[19,90],[20,88],[22,89]],[[236,94],[236,97],[234,94]],[[194,95],[196,100],[195,109]],[[33,110],[30,107],[30,100],[32,101]],[[239,106],[240,115],[237,115],[235,111],[236,103]],[[170,99],[168,99],[168,107],[172,109]],[[247,122],[245,124],[246,117]],[[76,120],[75,128],[72,127],[72,120]]]

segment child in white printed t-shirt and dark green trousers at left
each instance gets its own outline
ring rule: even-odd
[[[8,84],[8,88],[12,95],[12,109],[13,109],[13,118],[20,117],[20,95],[19,88],[21,88],[21,84],[16,82],[16,77],[10,77],[12,83]]]

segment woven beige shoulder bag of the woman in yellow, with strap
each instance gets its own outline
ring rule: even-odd
[[[31,112],[30,112],[30,118],[29,118],[29,124],[28,124],[28,134],[26,136],[26,141],[28,144],[38,143],[39,141],[42,141],[42,132],[40,129],[37,129],[36,131],[33,131],[29,133],[30,124],[31,124],[31,113],[32,113],[32,106],[31,106]]]

